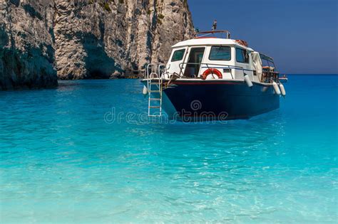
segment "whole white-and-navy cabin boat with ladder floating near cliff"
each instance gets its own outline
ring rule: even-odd
[[[183,121],[250,119],[286,95],[274,60],[229,31],[200,32],[172,48],[168,63],[147,65],[141,80],[150,117],[164,110]]]

